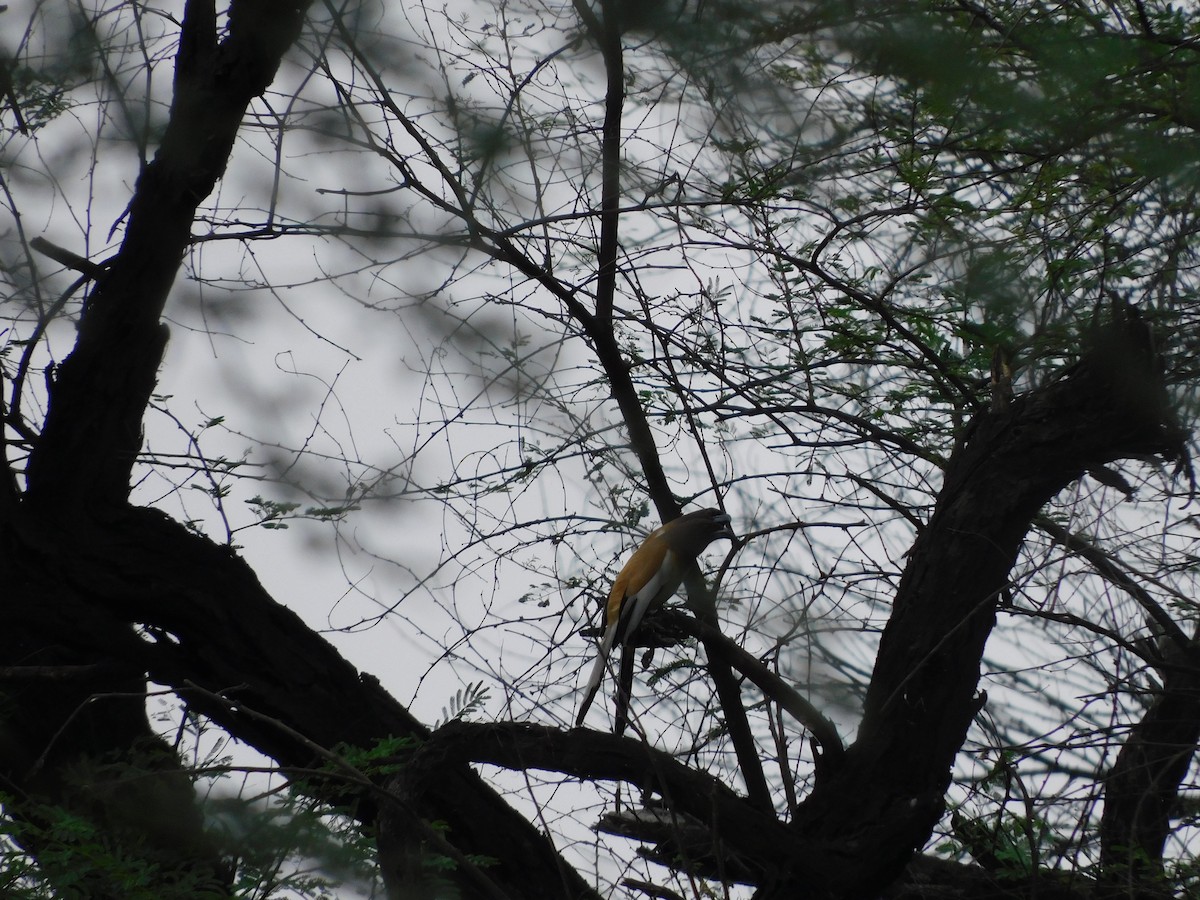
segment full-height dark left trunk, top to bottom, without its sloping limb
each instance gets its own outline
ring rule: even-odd
[[[0,664],[10,667],[0,686],[0,779],[8,811],[30,829],[26,846],[46,850],[36,829],[47,810],[66,808],[114,857],[139,858],[164,886],[210,896],[229,890],[232,874],[204,834],[174,752],[146,719],[144,671],[122,653],[139,642],[134,625],[100,614],[92,640],[79,641],[72,631],[97,618],[98,596],[70,574],[79,574],[76,540],[102,533],[126,503],[167,341],[160,319],[197,206],[224,170],[246,107],[299,35],[306,5],[268,10],[235,0],[218,43],[212,0],[187,4],[162,145],[138,179],[121,250],[94,286],[76,347],[49,388],[24,494],[10,492],[0,505],[10,623],[0,636]],[[109,572],[100,578],[114,581]],[[49,626],[25,628],[26,614]],[[64,666],[89,677],[30,677]],[[122,896],[126,886],[97,866],[83,889]]]

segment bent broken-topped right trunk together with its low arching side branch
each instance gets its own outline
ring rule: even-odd
[[[820,715],[794,698],[779,701],[824,734],[827,748],[816,787],[792,826],[764,817],[715,779],[614,736],[456,724],[439,731],[413,764],[428,770],[430,780],[443,766],[473,760],[629,781],[658,794],[662,814],[612,816],[608,829],[654,844],[652,856],[668,865],[762,884],[762,898],[1099,896],[1102,886],[1082,877],[1060,882],[1038,872],[1027,882],[997,883],[978,866],[914,862],[913,853],[941,816],[954,758],[985,702],[977,692],[984,646],[1038,510],[1090,468],[1154,454],[1181,457],[1183,434],[1166,406],[1148,331],[1132,311],[1118,311],[1062,378],[979,414],[910,554],[854,744],[840,752]],[[1159,852],[1163,804],[1138,815],[1130,809],[1164,786],[1174,790],[1190,758],[1194,671],[1178,662],[1109,785],[1124,810],[1112,814],[1124,823],[1121,834],[1157,841]],[[772,695],[768,679],[757,683]],[[1116,835],[1116,824],[1109,830]]]

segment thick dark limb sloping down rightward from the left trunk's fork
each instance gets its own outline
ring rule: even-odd
[[[377,679],[274,601],[238,556],[167,516],[130,508],[96,530],[22,526],[23,558],[31,559],[30,547],[43,556],[31,559],[37,581],[30,601],[10,611],[13,632],[60,642],[74,656],[107,650],[127,670],[175,689],[192,709],[284,770],[323,764],[318,749],[427,737]],[[127,623],[143,625],[146,637],[133,636]],[[144,704],[140,694],[131,704]],[[366,823],[390,802],[382,780],[364,790],[343,784],[337,772],[325,796]],[[462,854],[497,860],[485,875],[503,895],[595,896],[546,838],[466,766],[443,772],[412,811],[421,821],[445,822],[445,839]],[[419,832],[392,838],[437,852]]]

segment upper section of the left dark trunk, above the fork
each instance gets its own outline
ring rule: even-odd
[[[25,472],[30,505],[64,515],[128,497],[167,341],[162,310],[196,210],[224,173],[246,108],[270,85],[307,6],[236,0],[218,43],[214,0],[187,4],[162,144],[138,178],[121,250],[56,373]]]

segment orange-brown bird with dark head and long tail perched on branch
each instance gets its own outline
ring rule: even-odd
[[[617,581],[608,592],[608,602],[604,607],[604,634],[600,638],[600,652],[588,686],[583,695],[583,704],[575,718],[575,725],[583,724],[583,718],[595,700],[600,682],[604,678],[608,656],[616,643],[629,647],[634,632],[637,631],[646,613],[658,608],[679,589],[684,575],[704,547],[718,538],[733,540],[730,517],[719,509],[702,509],[679,516],[650,532],[634,554],[629,558]],[[629,678],[632,678],[632,656],[629,659]],[[625,680],[625,666],[622,667],[622,682]],[[622,690],[629,691],[628,684],[618,685],[617,696],[617,733],[624,731],[624,709],[629,697],[622,697]]]

